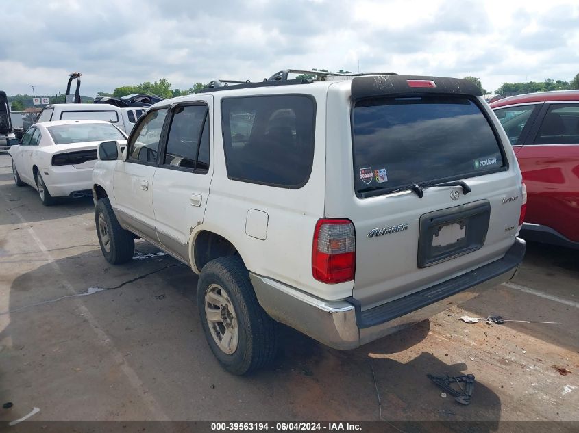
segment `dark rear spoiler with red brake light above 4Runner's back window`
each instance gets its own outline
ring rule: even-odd
[[[479,88],[472,81],[460,78],[423,75],[368,75],[352,79],[352,99],[412,93],[482,96]]]

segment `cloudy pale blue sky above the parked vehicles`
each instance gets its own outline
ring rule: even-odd
[[[506,81],[579,73],[578,0],[3,0],[0,90],[173,88],[284,68]]]

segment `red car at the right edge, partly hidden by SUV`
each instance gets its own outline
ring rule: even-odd
[[[579,90],[511,96],[491,107],[527,185],[521,235],[579,248]]]

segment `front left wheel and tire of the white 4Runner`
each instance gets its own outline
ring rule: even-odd
[[[97,236],[103,256],[112,265],[126,263],[135,253],[135,239],[116,219],[108,198],[101,198],[95,208]]]

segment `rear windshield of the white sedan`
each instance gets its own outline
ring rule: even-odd
[[[54,144],[125,140],[123,133],[110,123],[59,124],[47,129]]]

